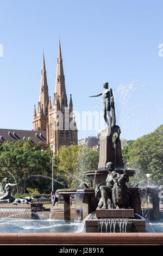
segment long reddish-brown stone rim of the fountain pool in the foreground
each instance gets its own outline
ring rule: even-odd
[[[0,244],[28,245],[162,245],[162,233],[1,233]]]

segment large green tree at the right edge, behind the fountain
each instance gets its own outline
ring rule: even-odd
[[[154,132],[144,135],[133,142],[127,153],[129,165],[139,170],[140,178],[151,178],[161,183],[163,179],[163,125]]]

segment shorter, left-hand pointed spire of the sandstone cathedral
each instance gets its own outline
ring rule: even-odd
[[[41,83],[40,83],[40,96],[39,102],[41,102],[42,111],[44,115],[48,114],[48,103],[49,103],[49,94],[48,94],[48,85],[46,77],[46,67],[45,67],[45,58],[44,54],[42,57],[42,70],[41,70]]]

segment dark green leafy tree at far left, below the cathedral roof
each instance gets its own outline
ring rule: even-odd
[[[30,187],[36,188],[40,193],[49,193],[52,187],[52,153],[51,150],[41,150],[41,144],[33,145],[30,140],[5,142],[0,145],[0,179],[12,176],[20,190]],[[54,161],[55,178],[58,178],[57,159]],[[12,180],[13,181],[13,180]]]

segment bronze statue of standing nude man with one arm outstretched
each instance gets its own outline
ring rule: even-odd
[[[115,107],[114,107],[114,97],[112,94],[112,89],[108,88],[108,82],[103,83],[104,90],[102,93],[98,93],[96,95],[92,95],[90,97],[98,97],[98,96],[103,96],[103,112],[104,112],[104,119],[106,124],[111,127],[116,124],[116,118],[115,118]],[[110,114],[111,110],[111,114]],[[107,118],[108,115],[108,118]],[[112,118],[111,118],[112,115]]]

